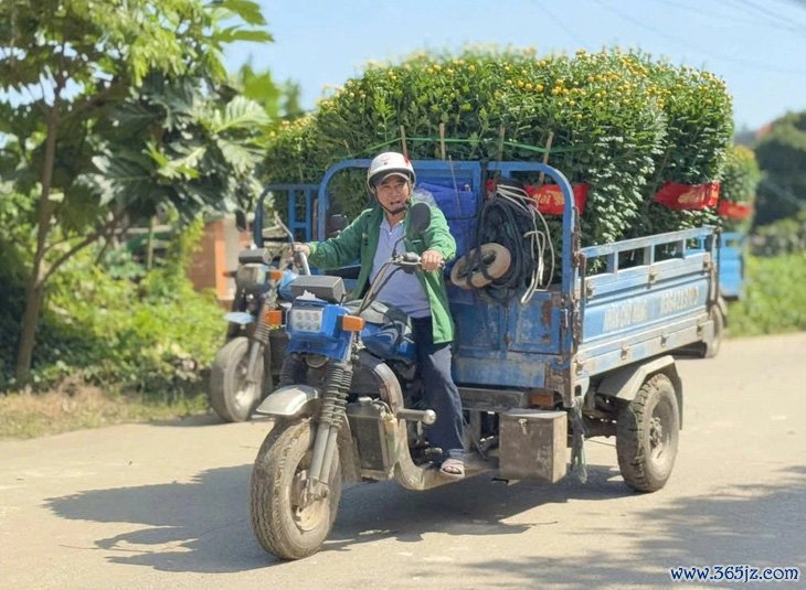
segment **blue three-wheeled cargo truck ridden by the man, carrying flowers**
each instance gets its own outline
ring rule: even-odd
[[[339,162],[317,185],[272,187],[275,199],[288,199],[296,239],[328,236],[331,180],[369,163]],[[717,229],[581,247],[571,186],[552,167],[413,164],[418,186],[434,187],[457,239],[457,265],[480,246],[474,243],[475,227],[491,178],[543,174],[563,194],[561,246],[543,253],[555,265],[556,280],[529,297],[506,300],[458,285],[448,288],[456,323],[454,380],[468,423],[468,474],[556,482],[570,463],[584,479],[585,440],[604,436],[615,437],[628,486],[640,492],[662,487],[682,427],[683,388],[675,354],[691,346],[714,351],[721,336]],[[258,215],[258,247],[264,246],[261,223]],[[371,345],[379,325],[394,324],[392,314],[349,301],[351,271],[300,276],[290,288],[304,297],[287,304],[285,329],[275,325],[294,352],[277,368],[280,387],[256,410],[274,418],[274,428],[255,460],[251,508],[258,541],[283,558],[318,550],[342,482],[396,480],[412,490],[450,483],[429,461],[424,427],[433,423],[434,412],[417,401],[415,367],[397,350],[384,353]],[[368,331],[370,324],[374,331]]]

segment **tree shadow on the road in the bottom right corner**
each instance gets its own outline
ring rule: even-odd
[[[783,470],[775,484],[733,486],[708,496],[683,497],[670,506],[638,513],[653,530],[602,530],[600,539],[621,535],[641,539],[637,551],[621,559],[597,545],[568,559],[539,557],[528,560],[490,560],[468,566],[479,582],[495,583],[501,572],[520,578],[522,587],[562,583],[598,587],[672,583],[668,568],[675,566],[750,565],[800,567],[806,564],[803,507],[806,506],[806,468]],[[656,532],[656,530],[659,530]],[[590,529],[585,533],[590,535]],[[664,578],[659,578],[658,568]],[[734,586],[731,582],[724,582]],[[516,583],[513,587],[521,587]]]

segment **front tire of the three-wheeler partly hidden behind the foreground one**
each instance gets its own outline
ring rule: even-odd
[[[264,355],[255,363],[255,386],[247,387],[250,340],[240,336],[224,344],[210,372],[210,404],[222,420],[243,422],[263,399]]]

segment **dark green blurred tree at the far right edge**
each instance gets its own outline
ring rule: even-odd
[[[794,217],[806,210],[806,111],[773,121],[755,146],[764,178],[759,186],[755,225]]]

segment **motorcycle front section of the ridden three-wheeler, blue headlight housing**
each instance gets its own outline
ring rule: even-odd
[[[415,204],[410,233],[429,222],[428,206]],[[350,303],[340,277],[300,276],[290,285],[279,387],[256,410],[275,423],[251,481],[252,527],[277,557],[319,550],[342,482],[396,479],[425,490],[450,481],[431,462],[441,450],[427,446],[423,425],[436,415],[422,407],[407,319],[375,301],[384,277],[417,268],[417,254],[395,256],[363,300]]]

